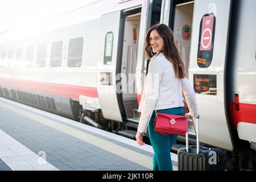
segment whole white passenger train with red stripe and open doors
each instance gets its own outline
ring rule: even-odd
[[[134,138],[144,38],[165,23],[196,93],[201,146],[221,148],[227,170],[255,169],[255,8],[254,0],[100,0],[11,28],[0,32],[0,96]]]

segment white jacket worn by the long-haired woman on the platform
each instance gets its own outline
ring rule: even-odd
[[[192,117],[198,116],[196,94],[187,78],[181,79],[185,100]],[[181,107],[183,104],[180,78],[175,77],[172,63],[163,53],[150,59],[148,73],[138,111],[141,112],[138,131],[145,133],[154,110]]]

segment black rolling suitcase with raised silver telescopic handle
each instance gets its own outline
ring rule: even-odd
[[[225,162],[223,151],[219,148],[200,147],[199,118],[196,118],[196,146],[188,146],[177,152],[178,171],[223,171]]]

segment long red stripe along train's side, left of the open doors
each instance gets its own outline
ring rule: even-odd
[[[97,88],[86,86],[52,84],[48,82],[16,80],[10,78],[0,78],[0,86],[1,85],[39,93],[52,94],[65,98],[72,98],[74,100],[79,100],[80,95],[96,98],[98,97]]]

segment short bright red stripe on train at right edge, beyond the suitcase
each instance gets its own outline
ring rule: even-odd
[[[229,118],[233,129],[237,129],[239,122],[253,123],[256,125],[256,105],[239,103],[239,109],[236,103],[228,102]]]

